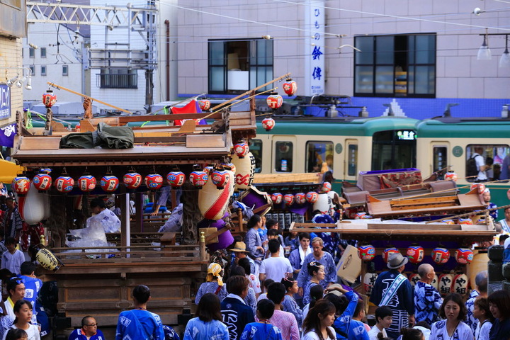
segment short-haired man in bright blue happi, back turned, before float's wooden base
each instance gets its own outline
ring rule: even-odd
[[[120,312],[115,340],[164,340],[161,318],[158,314],[147,310],[150,297],[147,285],[137,285],[133,289],[132,299],[135,309]]]

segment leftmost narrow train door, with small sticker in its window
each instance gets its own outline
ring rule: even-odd
[[[272,147],[271,173],[295,172],[297,169],[295,136],[273,136]]]

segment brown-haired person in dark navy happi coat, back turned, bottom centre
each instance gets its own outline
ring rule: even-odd
[[[223,323],[229,329],[229,340],[239,340],[246,324],[255,322],[254,312],[244,303],[249,280],[245,276],[231,276],[227,280],[229,295],[221,302]]]

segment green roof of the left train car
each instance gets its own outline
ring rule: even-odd
[[[257,129],[257,135],[349,135],[367,136],[386,130],[414,130],[419,120],[406,117],[339,117],[339,118],[290,118],[273,117],[271,131]]]

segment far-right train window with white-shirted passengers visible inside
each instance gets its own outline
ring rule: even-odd
[[[508,145],[467,145],[465,151],[467,181],[510,179],[510,147]]]

